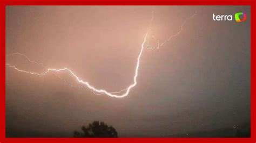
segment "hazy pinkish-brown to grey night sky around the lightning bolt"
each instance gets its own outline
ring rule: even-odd
[[[6,6],[6,55],[18,52],[47,68],[68,67],[96,88],[119,91],[133,82],[152,8]],[[144,49],[138,84],[124,98],[6,66],[6,137],[72,137],[94,120],[112,125],[119,137],[190,137],[250,126],[250,6],[156,6],[155,36],[163,42],[176,34],[195,11],[177,37]],[[247,20],[212,20],[212,13],[237,12],[246,12]],[[152,36],[146,45],[156,46]],[[6,56],[6,63],[45,71],[19,55]],[[80,85],[66,71],[57,74]]]

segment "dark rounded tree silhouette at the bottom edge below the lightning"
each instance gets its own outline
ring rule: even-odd
[[[93,121],[92,124],[82,126],[83,132],[74,132],[75,138],[117,138],[117,131],[112,126],[107,126],[103,121]]]

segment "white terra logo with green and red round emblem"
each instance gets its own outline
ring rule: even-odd
[[[242,16],[242,18],[240,17]],[[243,22],[247,19],[246,13],[245,12],[238,12],[235,13],[234,15],[235,21],[236,22]],[[232,21],[233,16],[232,15],[215,15],[214,13],[212,14],[212,19],[215,21]]]

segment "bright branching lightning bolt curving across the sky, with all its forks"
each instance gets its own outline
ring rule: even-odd
[[[10,68],[14,68],[15,70],[19,71],[19,72],[23,72],[23,73],[27,73],[27,74],[32,74],[32,75],[38,75],[38,76],[44,76],[46,74],[53,74],[55,75],[56,77],[58,77],[60,80],[64,81],[65,83],[69,84],[72,88],[86,88],[86,89],[89,89],[93,92],[93,94],[96,94],[96,95],[102,95],[102,94],[105,94],[105,95],[108,95],[108,96],[111,96],[111,97],[116,97],[116,98],[122,98],[122,97],[125,97],[127,95],[129,95],[131,89],[133,87],[135,87],[137,85],[137,77],[138,77],[138,70],[139,70],[139,64],[140,64],[140,58],[142,57],[142,53],[143,53],[143,50],[144,50],[144,45],[145,45],[145,42],[147,40],[147,35],[148,33],[150,32],[152,37],[154,38],[154,40],[156,40],[158,42],[158,46],[157,47],[153,47],[153,48],[160,48],[161,46],[163,46],[166,42],[170,41],[173,37],[176,37],[177,35],[179,35],[179,33],[182,31],[182,27],[183,25],[186,23],[187,19],[192,19],[194,16],[196,16],[196,13],[192,16],[192,17],[189,17],[189,18],[186,18],[183,22],[183,24],[180,26],[180,31],[175,34],[175,35],[170,35],[169,39],[165,40],[162,44],[159,43],[159,40],[154,37],[154,34],[153,34],[153,31],[151,29],[151,24],[153,22],[153,18],[154,18],[154,7],[153,7],[153,10],[152,10],[152,17],[151,17],[151,21],[150,21],[150,24],[149,24],[149,30],[147,31],[147,33],[145,34],[145,37],[144,37],[144,40],[142,42],[142,45],[140,46],[140,52],[139,52],[139,55],[138,55],[138,58],[137,58],[137,63],[136,63],[136,68],[135,68],[135,71],[134,71],[134,76],[133,76],[133,83],[130,84],[127,88],[123,89],[123,90],[120,90],[120,91],[116,91],[116,92],[109,92],[109,91],[106,91],[104,89],[97,89],[95,87],[93,87],[89,82],[86,82],[86,81],[83,81],[82,79],[80,79],[71,69],[69,68],[60,68],[60,69],[51,69],[51,68],[46,68],[43,63],[40,63],[40,62],[36,62],[36,61],[32,61],[28,58],[28,56],[26,56],[25,54],[21,54],[21,53],[12,53],[12,54],[9,54],[9,55],[6,55],[6,56],[10,56],[10,55],[21,55],[21,56],[24,56],[26,58],[26,60],[28,60],[29,62],[31,63],[35,63],[39,66],[42,66],[46,71],[44,73],[36,73],[36,72],[32,72],[32,71],[27,71],[27,70],[22,70],[22,69],[18,69],[16,66],[13,66],[13,65],[10,65],[9,63],[6,63],[5,65],[10,67]],[[147,47],[147,49],[152,49],[152,48],[149,48]],[[56,72],[59,72],[59,71],[68,71],[79,83],[82,83],[83,86],[80,86],[80,87],[75,87],[73,86],[72,83],[68,82],[68,81],[65,81],[63,78],[61,78],[60,76],[58,76],[57,74],[55,74]]]

